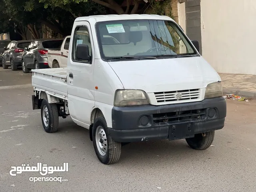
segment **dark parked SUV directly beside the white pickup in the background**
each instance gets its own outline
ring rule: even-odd
[[[22,54],[22,70],[48,68],[48,49],[60,49],[63,39],[33,40]]]

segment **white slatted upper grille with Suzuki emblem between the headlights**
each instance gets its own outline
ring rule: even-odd
[[[156,101],[158,103],[175,102],[181,100],[195,100],[200,97],[200,89],[180,90],[180,91],[168,91],[168,92],[156,92]]]

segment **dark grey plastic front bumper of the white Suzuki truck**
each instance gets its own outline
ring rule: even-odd
[[[175,140],[177,138],[170,131],[175,126],[178,129],[192,125],[192,134],[181,136],[179,133],[178,137],[190,138],[194,134],[222,129],[225,117],[226,100],[223,97],[162,106],[114,106],[109,131],[116,142]]]

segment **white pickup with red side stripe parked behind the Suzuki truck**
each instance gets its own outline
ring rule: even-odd
[[[48,50],[48,66],[50,68],[60,68],[67,66],[69,43],[70,36],[66,36],[62,42],[60,49]]]

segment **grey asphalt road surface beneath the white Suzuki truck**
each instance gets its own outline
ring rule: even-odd
[[[228,100],[226,126],[212,147],[192,150],[185,140],[132,143],[117,164],[101,164],[88,130],[60,118],[59,131],[44,132],[32,110],[31,73],[0,69],[0,192],[255,192],[256,103]],[[68,172],[65,182],[31,182],[38,172],[10,176],[11,166],[38,162]]]

